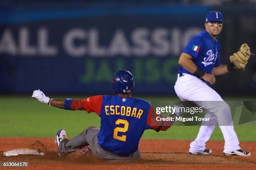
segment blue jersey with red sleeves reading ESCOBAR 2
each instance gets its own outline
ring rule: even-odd
[[[138,150],[138,143],[146,129],[167,130],[164,122],[152,125],[152,107],[133,97],[99,95],[84,100],[72,100],[71,110],[87,110],[101,117],[99,145],[110,152],[128,155]],[[152,114],[153,115],[153,114]],[[155,120],[155,119],[154,119]]]

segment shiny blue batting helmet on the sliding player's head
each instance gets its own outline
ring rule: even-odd
[[[131,93],[134,88],[134,77],[131,72],[126,70],[116,72],[112,79],[112,88],[117,94]]]

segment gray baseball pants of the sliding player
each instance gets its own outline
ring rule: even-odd
[[[108,150],[102,149],[98,144],[97,139],[99,131],[99,128],[90,127],[85,129],[82,133],[78,134],[71,140],[63,139],[58,147],[59,153],[61,155],[72,153],[74,151],[82,149],[85,146],[90,145],[92,155],[107,160],[108,162],[129,162],[132,160],[139,159],[141,157],[141,153],[139,150],[128,156],[122,156],[116,153],[111,153]]]

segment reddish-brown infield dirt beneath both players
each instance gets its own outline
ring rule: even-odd
[[[92,157],[74,160],[57,155],[54,138],[0,138],[0,161],[28,162],[28,169],[256,169],[256,142],[241,142],[241,148],[251,157],[224,156],[222,141],[209,141],[211,155],[189,155],[189,140],[141,140],[141,160],[131,163],[108,163]],[[17,148],[44,151],[44,156],[24,155],[6,157],[3,152]],[[1,167],[3,168],[3,167]],[[10,168],[6,168],[10,170]],[[18,168],[15,168],[17,170]],[[21,168],[24,169],[24,168]]]

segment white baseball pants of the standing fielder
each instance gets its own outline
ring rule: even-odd
[[[178,75],[174,90],[180,100],[195,101],[198,106],[204,106],[205,117],[210,117],[209,122],[202,122],[197,138],[190,143],[189,152],[197,153],[205,150],[205,143],[210,139],[217,122],[225,140],[223,152],[240,149],[230,107],[215,90],[199,78],[184,73],[181,77]]]

